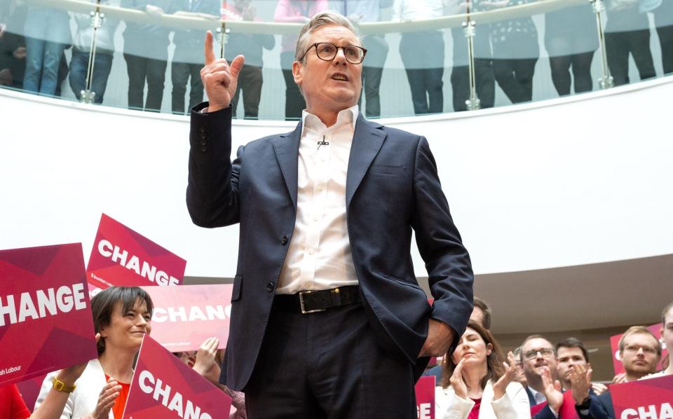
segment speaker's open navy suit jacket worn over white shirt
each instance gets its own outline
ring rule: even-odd
[[[294,231],[301,123],[292,132],[240,147],[232,163],[231,107],[198,112],[206,106],[198,105],[191,114],[186,200],[198,226],[240,223],[220,381],[242,390],[261,347]],[[348,160],[346,217],[362,303],[376,341],[414,364],[418,378],[428,362],[418,355],[430,317],[461,336],[473,309],[470,257],[449,214],[427,140],[360,115]],[[432,306],[414,276],[412,229],[426,263]]]

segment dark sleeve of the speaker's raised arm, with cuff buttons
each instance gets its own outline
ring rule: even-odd
[[[231,107],[201,114],[191,111],[189,178],[186,202],[194,224],[221,227],[239,221],[238,179],[243,147],[231,162]]]

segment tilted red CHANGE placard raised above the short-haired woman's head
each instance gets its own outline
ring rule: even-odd
[[[90,285],[100,289],[179,285],[185,266],[181,257],[102,214],[86,277]]]

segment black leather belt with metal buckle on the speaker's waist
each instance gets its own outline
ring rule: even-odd
[[[321,312],[329,308],[358,303],[360,287],[351,285],[325,289],[324,291],[301,291],[297,294],[278,294],[273,297],[272,310],[283,312]]]

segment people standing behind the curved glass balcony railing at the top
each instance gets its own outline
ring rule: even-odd
[[[93,3],[95,1],[91,0]],[[315,13],[332,8],[353,22],[395,22],[429,20],[446,15],[491,11],[529,3],[530,0],[278,0],[273,21],[304,23]],[[95,60],[89,62],[93,37],[92,18],[88,13],[68,13],[25,0],[6,0],[0,4],[0,85],[22,88],[41,95],[61,95],[67,78],[77,99],[93,92],[91,101],[102,103],[114,61],[114,52],[123,51],[128,73],[128,107],[159,111],[170,69],[172,90],[170,109],[185,114],[203,101],[202,67],[203,30],[172,29],[153,23],[161,15],[176,15],[217,21],[261,21],[255,4],[260,0],[102,0],[101,4],[140,11],[147,23],[124,22],[104,18],[96,32]],[[668,0],[605,0],[607,16],[605,46],[607,63],[614,85],[630,82],[629,60],[636,64],[639,78],[652,78],[655,62],[651,36],[656,33],[661,49],[664,74],[673,72],[673,5]],[[387,9],[387,10],[386,10]],[[268,13],[267,13],[268,14]],[[648,15],[654,26],[650,27]],[[269,16],[267,20],[271,20]],[[533,76],[541,55],[539,39],[549,55],[550,76],[558,95],[571,90],[586,92],[597,84],[592,79],[594,53],[599,48],[596,19],[589,2],[585,5],[545,13],[544,28],[536,27],[531,17],[500,20],[475,26],[475,89],[482,108],[493,107],[496,83],[512,103],[529,102],[533,97]],[[214,26],[217,24],[214,23]],[[115,46],[115,34],[123,29],[123,48]],[[432,114],[444,109],[444,70],[451,66],[450,82],[454,111],[468,109],[470,78],[465,30],[451,29],[452,57],[445,57],[444,32],[419,30],[403,32],[399,48],[407,74],[414,114]],[[544,32],[538,36],[538,32]],[[285,81],[285,118],[299,119],[304,109],[292,76],[292,62],[303,51],[295,50],[296,36],[280,39],[279,65]],[[172,55],[169,54],[173,46]],[[362,62],[362,95],[365,114],[381,116],[379,88],[390,45],[383,34],[362,39],[367,56]],[[226,43],[225,57],[232,60],[245,55],[245,67],[239,77],[233,109],[243,96],[245,118],[257,118],[261,101],[262,59],[264,50],[276,47],[276,37],[268,34],[233,32]],[[71,50],[70,54],[66,54]],[[69,61],[66,58],[69,55]],[[170,57],[170,61],[169,61]],[[451,64],[447,64],[451,60]],[[93,71],[88,68],[93,64]],[[170,65],[169,65],[170,64]],[[89,85],[87,80],[90,78]],[[145,86],[147,85],[147,93]],[[186,97],[188,99],[186,101]],[[278,99],[274,95],[273,99]]]

